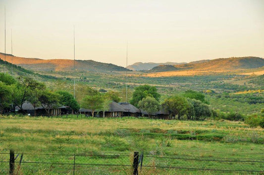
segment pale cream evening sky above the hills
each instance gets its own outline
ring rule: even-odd
[[[0,0],[0,52],[42,59],[191,62],[264,57],[264,0]]]

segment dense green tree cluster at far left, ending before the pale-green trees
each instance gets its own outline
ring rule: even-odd
[[[15,79],[9,74],[0,73],[0,108],[2,112],[8,110],[12,104],[26,113],[23,108],[25,102],[33,105],[35,115],[38,106],[42,106],[48,115],[51,108],[60,105],[70,106],[73,110],[79,109],[78,103],[66,91],[52,92],[44,83],[31,77],[20,76]]]

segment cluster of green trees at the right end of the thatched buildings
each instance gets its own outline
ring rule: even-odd
[[[159,110],[168,111],[171,118],[201,120],[211,117],[211,109],[206,104],[205,95],[188,90],[182,95],[172,95],[159,102],[160,94],[154,86],[141,85],[135,88],[130,103],[147,111],[149,115]]]

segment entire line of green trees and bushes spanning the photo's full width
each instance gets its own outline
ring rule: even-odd
[[[79,111],[80,107],[91,109],[92,116],[97,110],[108,110],[111,102],[120,102],[120,94],[115,91],[99,91],[88,86],[84,86],[78,94],[78,102],[72,94],[67,91],[52,91],[42,82],[31,77],[13,78],[9,74],[0,73],[0,108],[5,112],[13,104],[26,113],[23,109],[25,102],[30,102],[36,114],[36,107],[42,106],[47,115],[51,108],[60,105],[69,106],[74,111]],[[123,94],[125,93],[122,92]],[[240,96],[241,94],[236,94]],[[230,98],[229,94],[222,94],[220,98]],[[252,98],[251,98],[252,99]],[[168,114],[172,119],[179,120],[204,120],[208,117],[214,119],[245,120],[251,126],[264,127],[264,109],[259,114],[244,116],[239,113],[225,113],[215,111],[208,105],[205,94],[192,90],[187,90],[181,94],[174,94],[160,100],[160,94],[155,86],[140,85],[134,88],[130,104],[146,111],[149,116],[156,115],[157,112]]]

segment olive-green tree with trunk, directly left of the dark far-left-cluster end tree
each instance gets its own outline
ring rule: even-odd
[[[39,101],[42,107],[46,110],[48,116],[50,116],[50,109],[59,106],[59,95],[45,90],[40,94]]]

